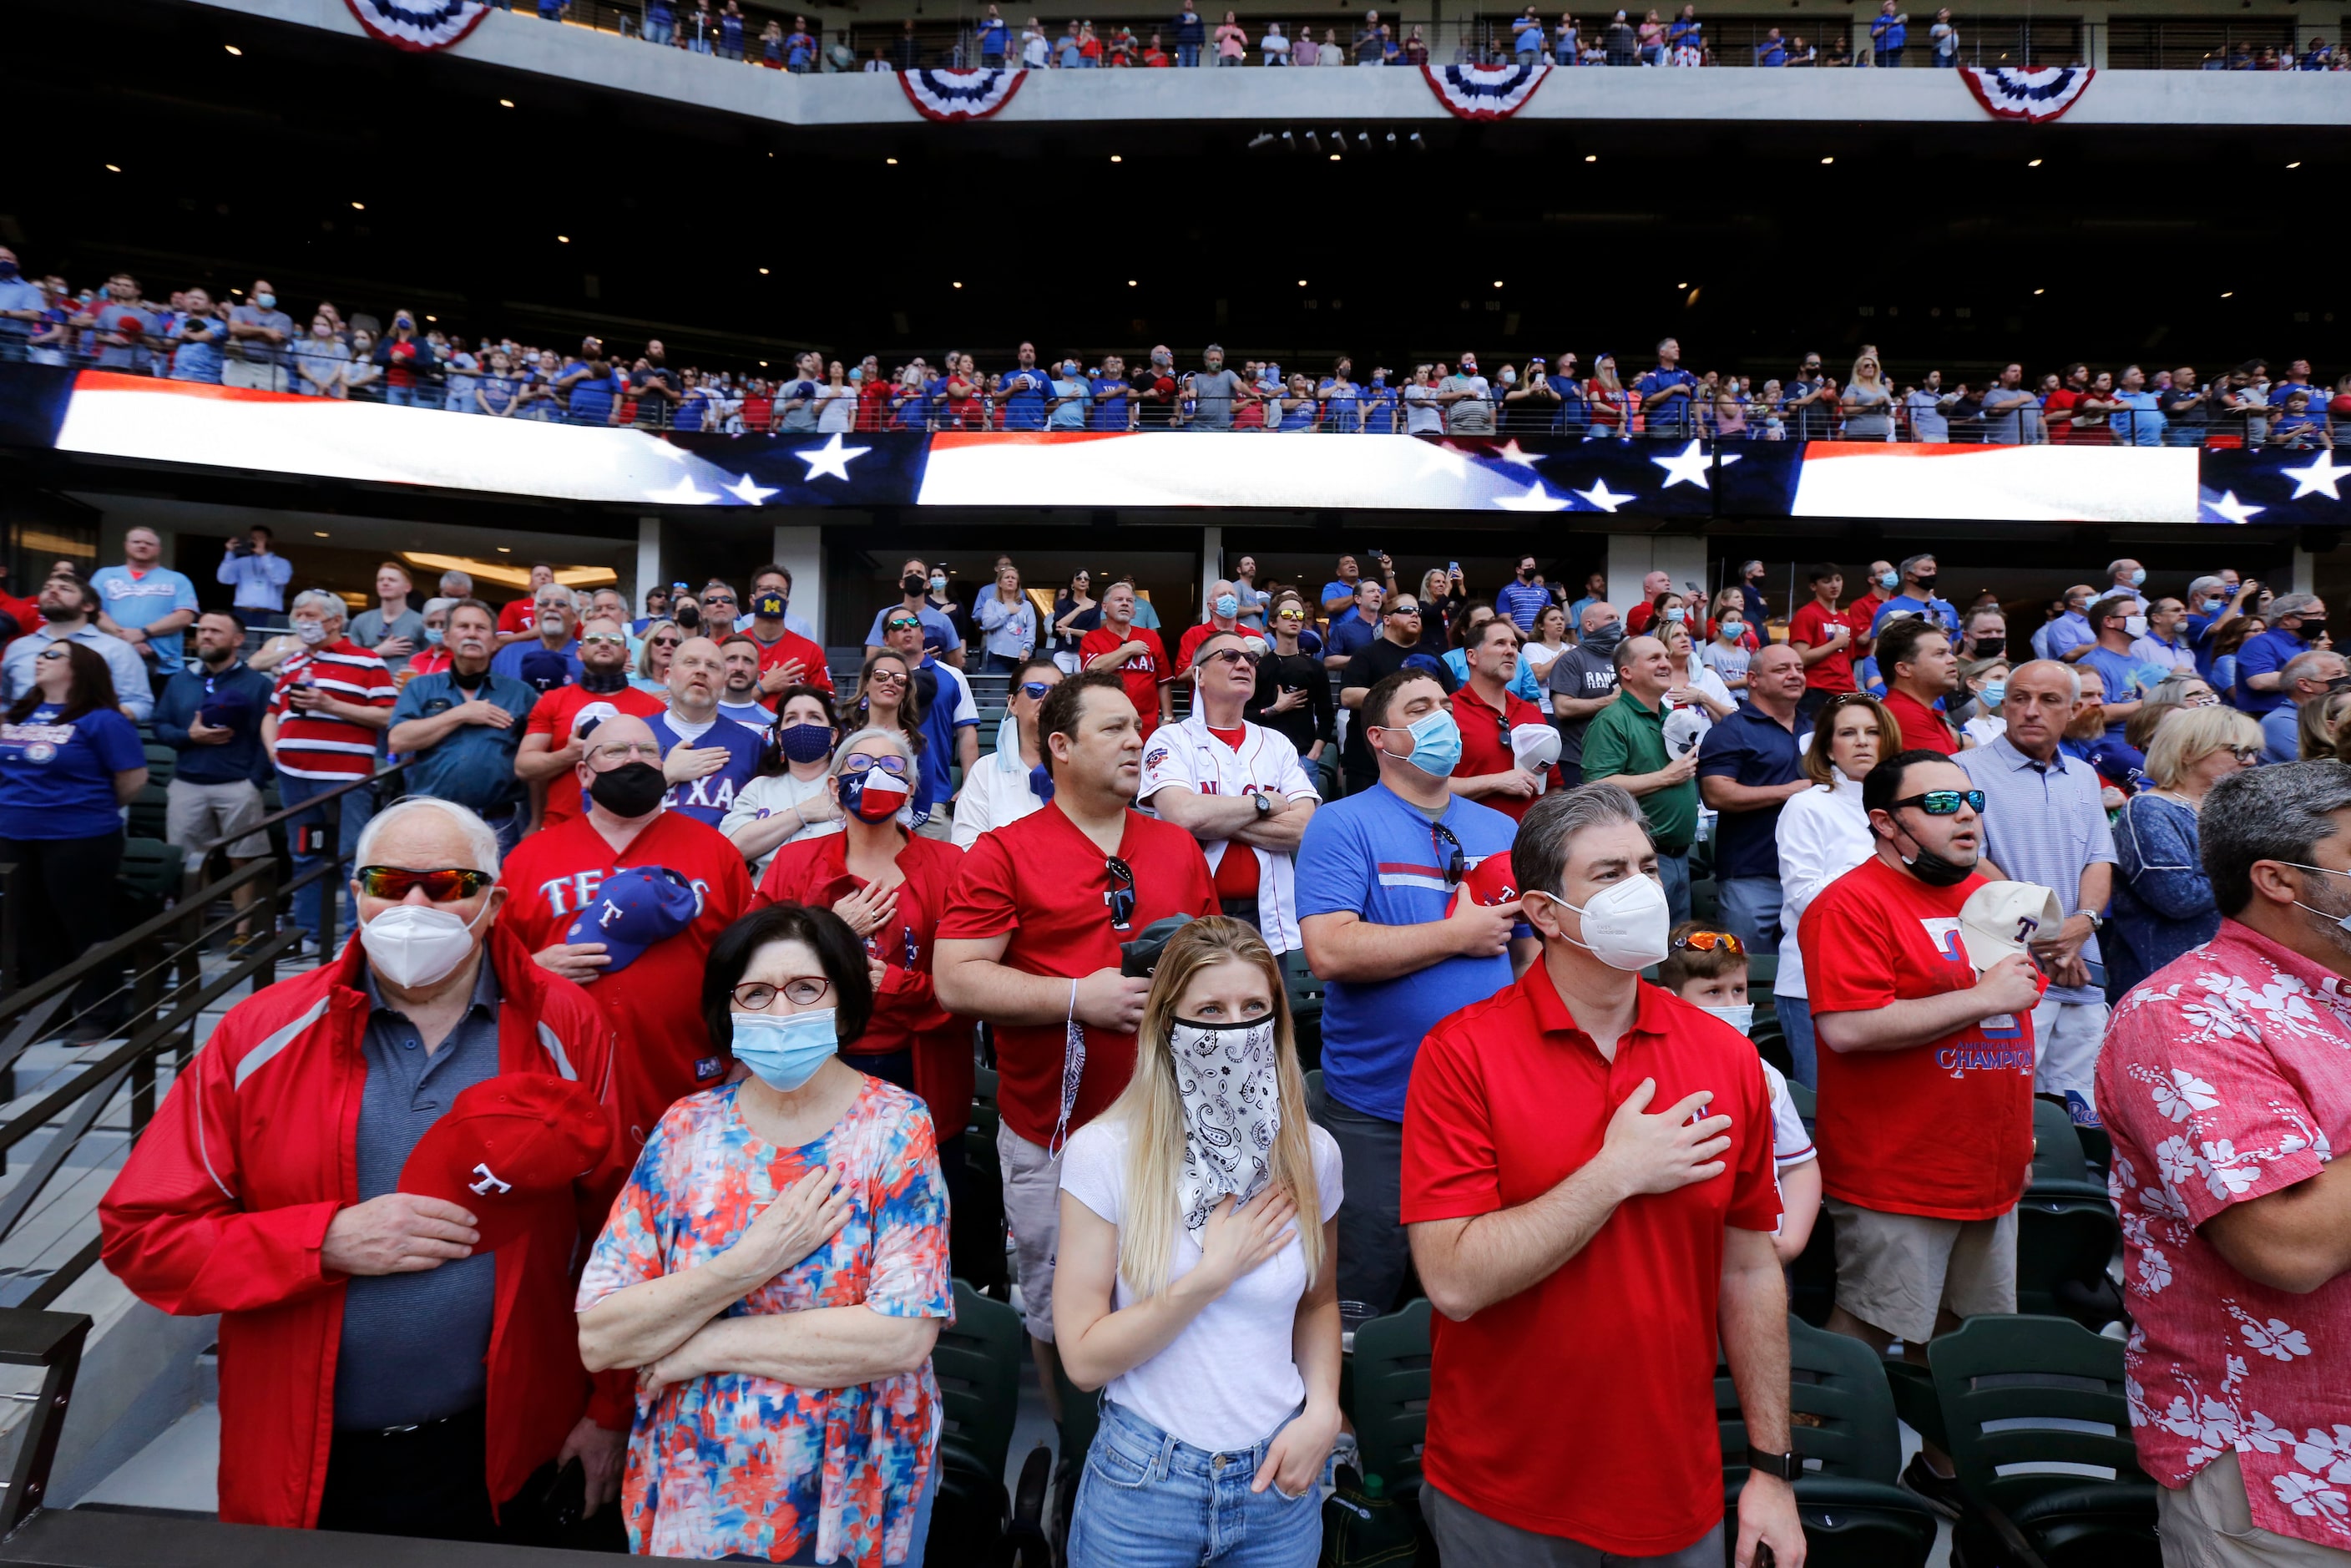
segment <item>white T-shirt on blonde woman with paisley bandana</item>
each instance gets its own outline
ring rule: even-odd
[[[1319,1126],[1307,1126],[1307,1140],[1314,1147],[1319,1222],[1328,1225],[1340,1199],[1338,1143]],[[1060,1154],[1060,1190],[1112,1225],[1119,1222],[1126,1211],[1124,1117],[1098,1117],[1070,1133],[1070,1145]],[[1168,1281],[1183,1279],[1194,1267],[1199,1267],[1199,1241],[1178,1227]],[[1232,1281],[1232,1288],[1208,1302],[1166,1349],[1112,1378],[1105,1392],[1194,1448],[1230,1453],[1260,1443],[1307,1396],[1298,1361],[1291,1359],[1298,1302],[1305,1293],[1305,1248],[1293,1241]],[[1119,1276],[1112,1307],[1126,1309],[1133,1302],[1133,1291]]]

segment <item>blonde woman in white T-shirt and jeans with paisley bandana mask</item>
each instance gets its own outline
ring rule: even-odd
[[[1072,1563],[1307,1568],[1338,1436],[1340,1157],[1307,1121],[1281,969],[1237,919],[1178,931],[1136,1074],[1060,1164],[1053,1338],[1107,1389]],[[1211,1535],[1213,1528],[1213,1535]]]

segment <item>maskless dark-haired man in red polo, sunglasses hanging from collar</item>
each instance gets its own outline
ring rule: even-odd
[[[1150,980],[1119,973],[1119,943],[1154,919],[1218,905],[1192,835],[1131,809],[1143,729],[1117,675],[1089,670],[1053,686],[1037,741],[1051,799],[983,832],[964,856],[931,976],[940,1006],[997,1032],[1004,1218],[1053,1401],[1060,1145],[1126,1088],[1150,992]]]

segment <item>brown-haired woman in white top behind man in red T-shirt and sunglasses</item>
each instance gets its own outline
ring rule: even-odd
[[[1813,745],[1803,752],[1803,776],[1813,788],[1780,806],[1780,978],[1770,999],[1787,1032],[1794,1077],[1820,1086],[1813,1046],[1813,1009],[1806,1006],[1803,945],[1794,940],[1803,912],[1820,891],[1876,853],[1869,813],[1862,811],[1862,773],[1902,750],[1902,731],[1878,698],[1846,691],[1813,715]]]

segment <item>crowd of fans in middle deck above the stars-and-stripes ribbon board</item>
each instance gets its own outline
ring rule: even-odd
[[[87,364],[172,381],[226,383],[303,397],[348,397],[489,418],[649,430],[877,433],[877,430],[1267,430],[1279,435],[1561,435],[1580,440],[1848,440],[2123,447],[2332,447],[2351,428],[2351,374],[2332,390],[2309,360],[2283,374],[2245,360],[2201,376],[2193,364],[2092,371],[2083,362],[2027,378],[2005,364],[1984,383],[1944,383],[1940,369],[1893,378],[1862,346],[1841,381],[1806,353],[1789,374],[1693,371],[1681,343],[1657,343],[1646,367],[1575,353],[1500,362],[1486,376],[1476,353],[1399,374],[1349,357],[1328,371],[1265,360],[1227,364],[1211,343],[1197,369],[1178,369],[1166,346],[1128,367],[1124,355],[1046,362],[1020,343],[1002,369],[947,350],[884,369],[804,353],[790,376],[675,367],[647,341],[630,357],[600,339],[557,353],[468,341],[433,317],[395,310],[348,320],[320,301],[308,327],[277,308],[270,282],[237,289],[245,303],[202,287],[148,301],[118,273],[103,292],[71,292],[63,277],[33,282],[0,247],[0,360]]]

